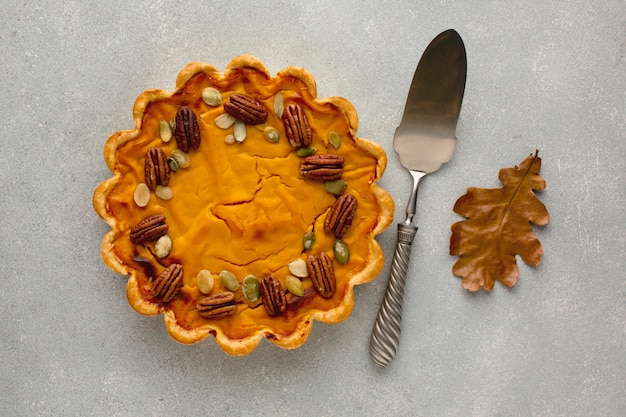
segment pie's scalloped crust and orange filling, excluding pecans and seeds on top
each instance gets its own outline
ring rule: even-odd
[[[202,91],[207,87],[221,93],[222,104],[203,101]],[[256,98],[268,110],[261,126],[245,125],[241,143],[225,140],[234,127],[215,124],[234,92]],[[341,237],[350,251],[345,264],[334,257],[336,237],[324,232],[324,220],[336,196],[325,189],[324,182],[300,175],[302,157],[286,139],[275,111],[279,94],[285,107],[297,103],[304,110],[313,134],[310,146],[316,154],[345,158],[344,192],[358,202],[352,224]],[[161,121],[174,119],[181,106],[188,106],[197,118],[200,146],[188,151],[189,167],[171,172],[167,186],[173,197],[163,200],[152,191],[148,204],[139,207],[133,196],[137,185],[145,182],[147,150],[161,148],[169,156],[177,148],[175,139],[164,142],[159,132]],[[169,334],[184,344],[213,335],[231,355],[250,353],[263,338],[282,348],[296,348],[308,338],[314,320],[338,323],[350,315],[354,286],[373,280],[383,267],[375,237],[391,223],[394,204],[377,185],[387,163],[385,152],[374,142],[356,137],[357,113],[346,99],[317,98],[315,80],[303,68],[287,67],[272,77],[258,59],[242,55],[228,64],[224,74],[205,63],[187,65],[178,74],[174,92],[153,89],[139,95],[133,119],[134,129],[119,131],[106,142],[104,159],[113,176],[97,187],[93,205],[111,227],[102,241],[102,258],[113,271],[129,277],[128,302],[135,311],[147,316],[163,314]],[[278,142],[264,137],[267,126],[279,132]],[[338,148],[329,142],[330,132],[341,138]],[[164,258],[156,256],[154,242],[136,244],[129,237],[133,226],[153,214],[167,219],[172,250]],[[308,232],[314,233],[315,243],[306,251],[302,242]],[[333,259],[334,294],[320,296],[310,277],[302,278],[303,296],[290,294],[285,286],[289,262],[322,251]],[[163,302],[153,295],[151,286],[172,263],[183,267],[182,285],[173,299]],[[197,311],[198,301],[207,296],[198,288],[200,270],[214,277],[210,294],[227,291],[220,279],[222,270],[232,272],[239,283],[248,275],[261,279],[271,274],[285,291],[287,308],[270,316],[261,298],[246,300],[240,286],[234,291],[234,314],[204,318]]]

